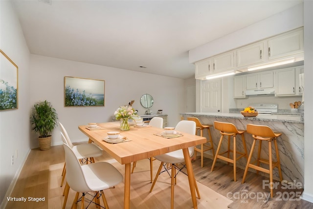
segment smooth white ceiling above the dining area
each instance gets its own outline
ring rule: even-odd
[[[182,79],[194,77],[188,50],[302,2],[11,1],[32,54]]]

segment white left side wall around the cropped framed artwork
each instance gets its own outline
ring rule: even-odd
[[[18,109],[0,112],[0,204],[30,151],[29,51],[10,1],[0,1],[0,48],[19,67]],[[2,69],[1,69],[2,70]],[[16,158],[15,152],[18,151]],[[14,156],[14,164],[11,158]],[[0,206],[2,207],[2,204]]]

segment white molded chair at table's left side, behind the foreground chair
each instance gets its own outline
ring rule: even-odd
[[[65,142],[75,153],[77,159],[83,160],[86,159],[86,163],[88,164],[88,159],[90,159],[90,162],[94,163],[94,157],[102,156],[102,151],[99,147],[97,147],[94,144],[91,143],[82,143],[78,145],[73,145],[72,142],[69,139],[69,136],[67,134],[67,130],[64,128],[62,123],[59,122],[59,125],[61,127],[61,133],[64,136],[63,142]],[[65,141],[64,141],[65,140]],[[64,179],[66,174],[66,163],[64,163],[63,171],[62,171],[62,181],[61,181],[61,187],[63,186]]]

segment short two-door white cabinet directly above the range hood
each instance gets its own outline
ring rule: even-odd
[[[273,71],[246,75],[246,90],[268,89],[274,87]]]

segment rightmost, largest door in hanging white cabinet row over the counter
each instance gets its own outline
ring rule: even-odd
[[[268,60],[303,52],[303,28],[268,39]]]

